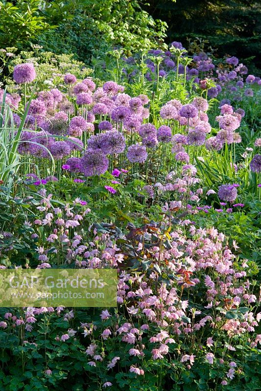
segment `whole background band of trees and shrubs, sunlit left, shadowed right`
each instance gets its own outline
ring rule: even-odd
[[[0,48],[32,44],[90,63],[111,48],[125,53],[196,38],[216,57],[261,68],[261,5],[251,0],[18,0],[0,1]],[[207,41],[207,42],[206,42]],[[165,42],[165,44],[164,44]]]

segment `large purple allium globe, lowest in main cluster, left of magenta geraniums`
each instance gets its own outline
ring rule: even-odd
[[[81,161],[85,176],[104,174],[109,166],[109,160],[102,152],[87,151]]]

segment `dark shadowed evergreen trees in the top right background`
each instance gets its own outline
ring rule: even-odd
[[[208,40],[217,55],[237,56],[253,72],[260,72],[260,1],[150,0],[146,9],[167,22],[167,42],[182,41],[186,46],[195,38]]]

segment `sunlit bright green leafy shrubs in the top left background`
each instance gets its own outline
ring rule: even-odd
[[[37,43],[46,51],[73,53],[89,63],[92,56],[113,46],[127,54],[156,47],[166,37],[166,22],[154,20],[143,1],[16,1],[0,2],[0,47],[26,49]]]

